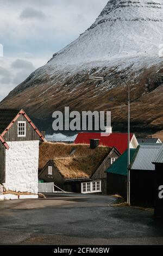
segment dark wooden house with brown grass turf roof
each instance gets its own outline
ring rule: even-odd
[[[118,156],[115,148],[44,142],[40,145],[39,179],[54,182],[67,192],[106,194],[105,170]]]

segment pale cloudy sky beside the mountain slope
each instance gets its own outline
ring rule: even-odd
[[[107,2],[0,0],[0,101],[91,26]]]

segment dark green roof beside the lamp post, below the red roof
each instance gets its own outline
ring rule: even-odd
[[[133,159],[136,149],[130,149],[130,160]],[[128,150],[126,150],[118,159],[111,164],[111,166],[106,170],[107,173],[114,173],[127,176],[128,174]]]

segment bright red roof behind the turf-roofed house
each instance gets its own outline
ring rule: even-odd
[[[130,141],[133,138],[133,133],[130,133]],[[115,147],[121,154],[128,148],[128,134],[127,133],[96,133],[96,132],[80,132],[75,144],[90,144],[90,139],[99,139],[99,144]]]

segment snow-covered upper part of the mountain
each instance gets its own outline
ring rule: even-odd
[[[95,23],[55,53],[47,67],[104,60],[111,63],[126,56],[158,56],[162,31],[162,0],[110,0]]]

